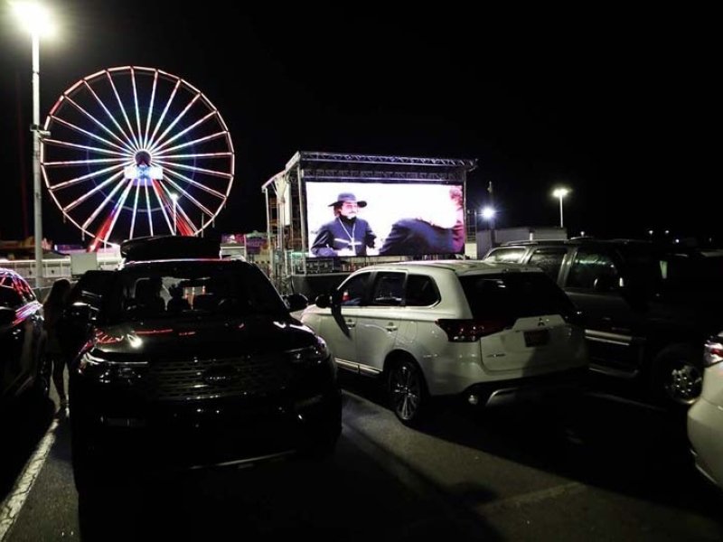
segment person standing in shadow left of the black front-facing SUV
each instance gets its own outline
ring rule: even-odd
[[[46,362],[52,363],[52,382],[61,400],[61,409],[68,407],[68,396],[65,393],[65,354],[61,348],[60,333],[58,331],[61,322],[62,311],[68,302],[70,294],[70,280],[59,278],[52,283],[50,293],[42,303],[43,327],[46,332],[45,358]]]

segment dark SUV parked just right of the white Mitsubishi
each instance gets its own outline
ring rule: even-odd
[[[723,327],[723,255],[630,239],[505,243],[485,260],[539,266],[581,312],[590,367],[653,398],[700,396],[704,341]]]

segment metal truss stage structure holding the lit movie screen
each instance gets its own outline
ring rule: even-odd
[[[466,176],[476,166],[455,158],[297,152],[262,186],[269,275],[284,293],[313,295],[371,263],[461,256]],[[462,247],[455,229],[463,232]],[[424,232],[424,244],[410,240],[412,230]],[[403,243],[396,242],[401,231]]]

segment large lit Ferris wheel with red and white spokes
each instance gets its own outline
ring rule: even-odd
[[[226,123],[201,90],[165,71],[126,66],[80,79],[44,129],[45,185],[95,243],[197,235],[229,197]]]

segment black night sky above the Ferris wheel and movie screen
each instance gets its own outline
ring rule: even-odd
[[[60,21],[41,46],[42,119],[104,68],[191,82],[236,150],[219,231],[266,229],[260,186],[304,150],[477,159],[467,204],[480,208],[493,182],[499,227],[557,225],[550,192],[563,183],[572,234],[721,234],[711,14],[230,4],[50,3]],[[21,182],[33,229],[31,48],[2,9],[0,238],[20,238]],[[43,221],[46,237],[80,242],[47,196]]]

